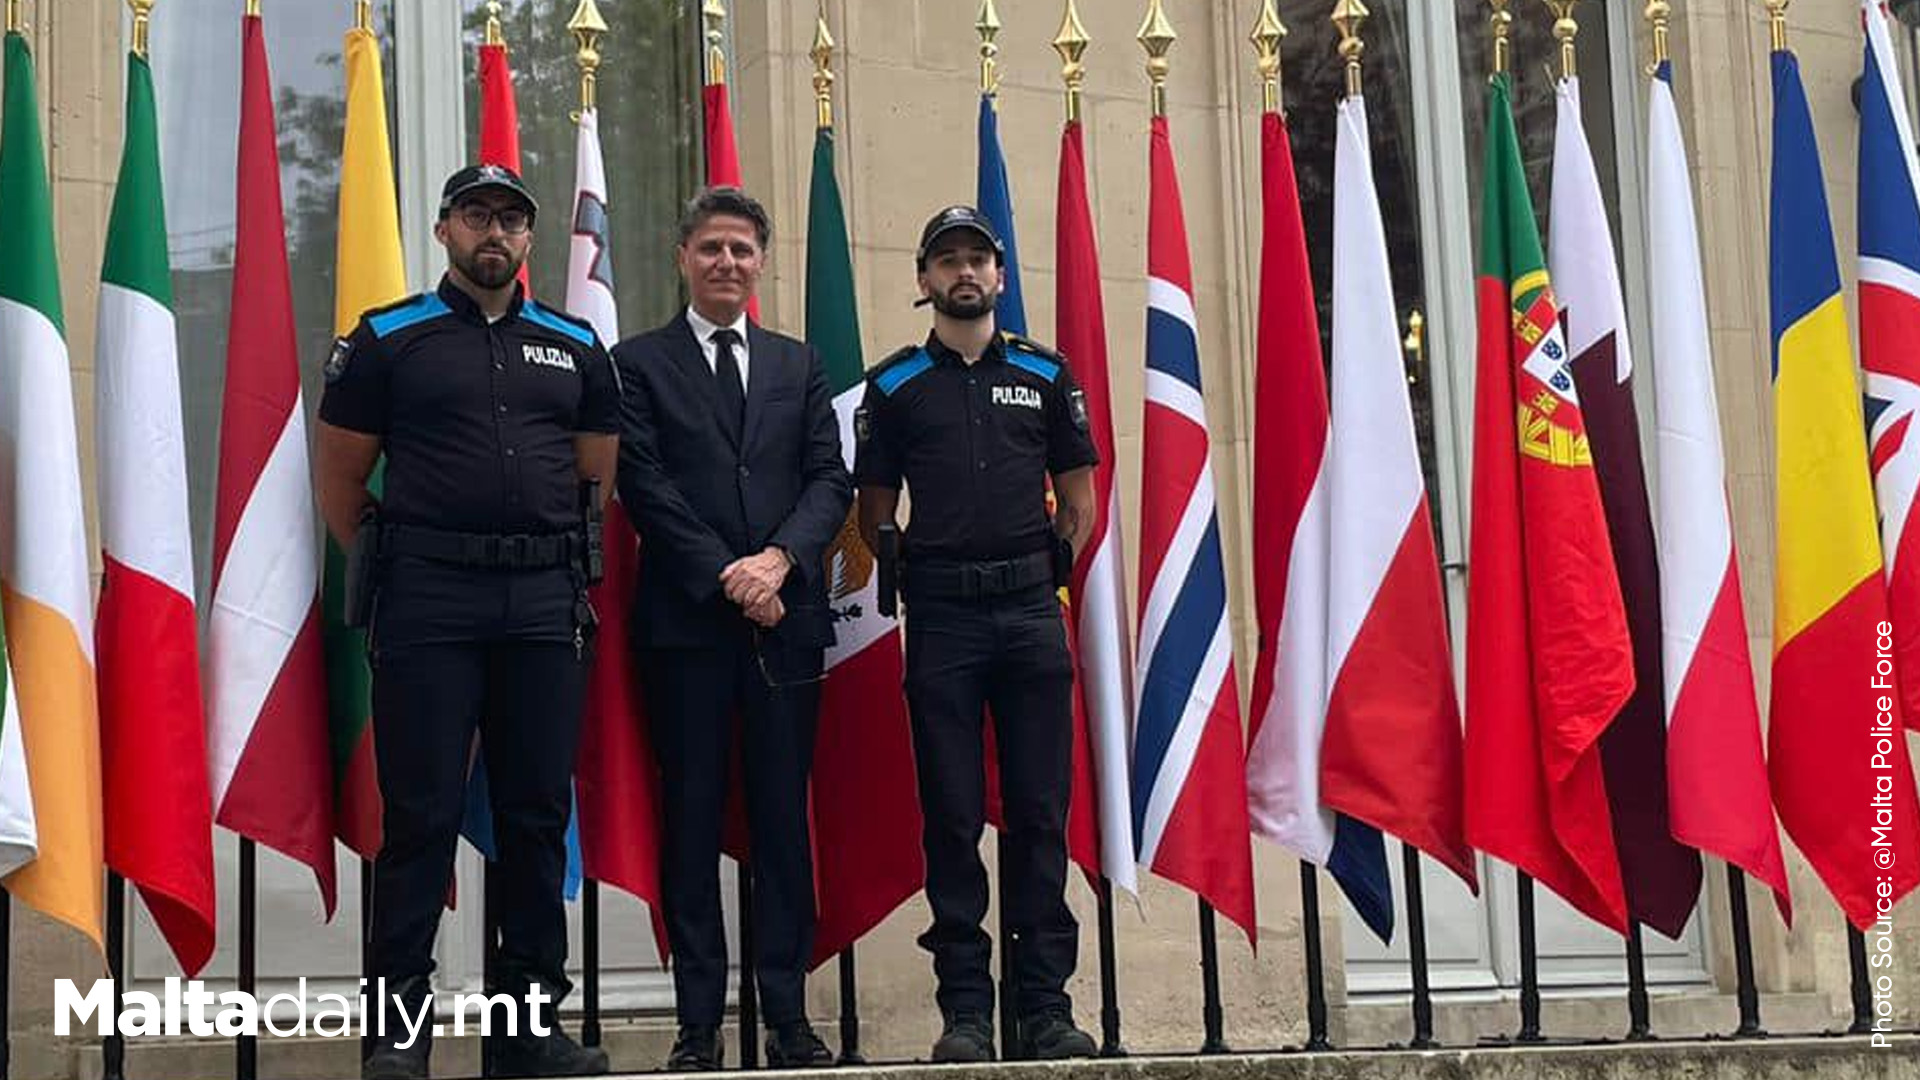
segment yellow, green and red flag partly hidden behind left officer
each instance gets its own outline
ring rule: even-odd
[[[334,332],[348,336],[361,313],[407,296],[399,252],[394,150],[386,133],[380,40],[367,27],[348,31],[348,123],[340,152],[340,244],[334,271]],[[374,494],[380,475],[374,473]],[[334,828],[363,859],[380,851],[380,782],[372,767],[372,673],[367,636],[346,625],[346,557],[326,540],[321,586],[326,648],[326,724],[334,749]]]

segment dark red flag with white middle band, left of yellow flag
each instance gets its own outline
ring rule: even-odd
[[[313,867],[334,911],[334,776],[273,81],[242,19],[234,288],[207,625],[215,821]]]

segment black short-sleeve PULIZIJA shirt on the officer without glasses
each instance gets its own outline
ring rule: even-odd
[[[1098,463],[1066,361],[996,334],[968,365],[929,334],[866,379],[854,480],[912,490],[916,559],[1010,559],[1052,544],[1046,475]]]

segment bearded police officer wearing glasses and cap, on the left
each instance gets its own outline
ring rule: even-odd
[[[620,390],[593,329],[515,281],[536,211],[509,169],[455,173],[434,227],[449,263],[440,288],[369,311],[326,363],[321,509],[334,538],[378,561],[369,642],[386,809],[367,976],[386,978],[388,1019],[365,1078],[426,1076],[432,1022],[401,1049],[392,1003],[413,1017],[432,995],[476,730],[501,871],[488,992],[518,1013],[495,1038],[495,1074],[607,1072],[607,1053],[566,1038],[555,1011],[570,990],[561,882],[593,632],[588,500],[612,486]],[[382,454],[376,502],[367,479]]]

